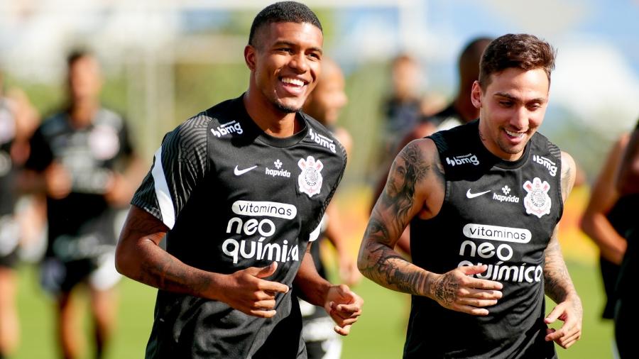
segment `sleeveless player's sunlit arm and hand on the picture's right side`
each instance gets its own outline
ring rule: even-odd
[[[575,172],[574,160],[569,154],[562,152],[561,184],[564,203],[572,190]],[[558,228],[555,226],[550,243],[545,250],[544,265],[545,293],[557,303],[557,306],[546,316],[545,323],[550,324],[559,319],[564,324],[557,330],[547,328],[546,341],[555,341],[562,348],[569,348],[581,338],[581,319],[584,309],[564,262],[557,232]]]

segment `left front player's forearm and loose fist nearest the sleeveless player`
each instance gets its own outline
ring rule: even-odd
[[[351,326],[361,314],[364,299],[351,291],[347,285],[332,285],[317,273],[310,255],[310,246],[302,259],[294,285],[302,292],[302,299],[317,306],[323,306],[337,324],[334,331],[342,336],[349,335]]]

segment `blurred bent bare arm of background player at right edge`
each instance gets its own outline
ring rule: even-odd
[[[615,187],[615,175],[621,163],[623,150],[628,144],[628,138],[624,135],[613,145],[594,184],[590,201],[580,223],[581,230],[599,246],[603,258],[616,264],[621,264],[628,243],[613,228],[606,214],[619,198]]]

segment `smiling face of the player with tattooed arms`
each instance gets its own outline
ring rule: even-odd
[[[521,157],[526,143],[544,121],[550,82],[542,68],[510,67],[491,74],[486,89],[473,84],[471,99],[479,109],[479,133],[486,148],[504,160]]]

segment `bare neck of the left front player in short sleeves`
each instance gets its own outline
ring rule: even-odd
[[[285,113],[276,109],[263,97],[246,92],[242,97],[246,112],[262,131],[273,137],[290,137],[302,129],[295,113]]]

